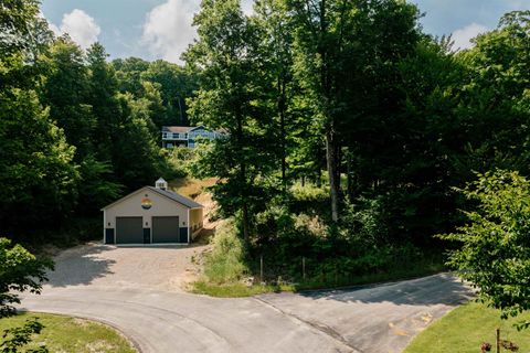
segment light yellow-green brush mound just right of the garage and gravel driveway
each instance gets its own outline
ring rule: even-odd
[[[244,247],[232,221],[218,227],[211,244],[212,252],[204,265],[208,280],[216,285],[240,280],[247,269],[244,263]]]

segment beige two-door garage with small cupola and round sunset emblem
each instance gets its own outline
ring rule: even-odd
[[[203,206],[168,190],[163,179],[102,211],[105,244],[189,244],[203,225]]]

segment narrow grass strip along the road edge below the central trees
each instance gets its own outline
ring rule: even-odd
[[[197,281],[193,284],[192,291],[198,295],[206,295],[211,297],[219,298],[241,298],[241,297],[252,297],[263,293],[273,293],[282,291],[295,291],[293,285],[254,285],[245,286],[243,284],[225,284],[225,285],[215,285],[209,284],[205,281]]]

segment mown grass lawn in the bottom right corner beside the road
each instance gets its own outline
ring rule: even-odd
[[[530,313],[500,320],[499,311],[469,302],[443,317],[416,336],[404,353],[477,353],[480,344],[489,342],[495,352],[495,330],[500,328],[501,340],[516,343],[519,352],[530,351],[530,332],[518,332],[513,323],[530,320]],[[502,352],[509,352],[501,350]]]

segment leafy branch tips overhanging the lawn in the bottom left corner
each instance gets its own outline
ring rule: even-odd
[[[39,318],[26,320],[23,327],[7,329],[3,331],[3,342],[0,344],[2,353],[17,353],[19,350],[31,343],[32,335],[41,333],[44,325],[38,321]],[[24,350],[28,353],[47,353],[45,346]]]

